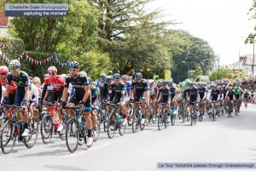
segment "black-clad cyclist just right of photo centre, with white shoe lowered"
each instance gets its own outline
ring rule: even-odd
[[[134,101],[140,101],[143,102],[145,98],[148,97],[149,100],[149,95],[148,95],[148,83],[146,80],[143,80],[143,74],[140,72],[137,72],[135,74],[135,82],[131,83],[131,92],[130,92],[130,100],[134,95]],[[146,96],[146,97],[145,97]],[[147,115],[145,112],[145,108],[142,106],[142,113],[143,113],[143,118],[141,123],[143,124],[145,122],[145,118]],[[137,104],[135,104],[135,108],[137,108]]]

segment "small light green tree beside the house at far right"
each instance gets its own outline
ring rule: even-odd
[[[218,80],[218,79],[231,79],[234,77],[233,71],[230,68],[219,68],[213,70],[209,77],[211,81]]]

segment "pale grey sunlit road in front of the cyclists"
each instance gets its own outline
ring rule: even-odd
[[[162,170],[157,162],[256,162],[255,130],[256,105],[249,104],[238,116],[224,115],[214,122],[207,117],[193,127],[179,120],[161,131],[155,124],[133,134],[129,127],[112,140],[101,132],[92,147],[79,146],[73,154],[57,135],[49,145],[39,135],[32,149],[17,142],[9,155],[0,151],[0,170],[148,171]]]

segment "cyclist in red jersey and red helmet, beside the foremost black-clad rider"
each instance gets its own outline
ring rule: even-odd
[[[42,94],[42,99],[41,99],[41,104],[44,100],[44,96],[47,90],[47,87],[49,85],[52,85],[53,87],[53,91],[52,94],[50,94],[49,99],[47,100],[48,103],[54,103],[56,101],[61,101],[61,96],[62,96],[62,92],[64,89],[64,85],[65,85],[65,80],[60,76],[57,75],[57,68],[55,66],[49,66],[48,70],[47,70],[49,77],[45,77],[44,78],[44,88],[43,88],[43,94]],[[50,112],[53,114],[53,117],[55,118],[55,121],[59,122],[59,126],[57,128],[57,131],[61,131],[63,129],[63,125],[62,125],[62,115],[61,115],[61,109],[58,107],[57,111],[58,111],[58,117],[55,116],[55,112],[54,112],[54,106],[53,107],[49,107]]]

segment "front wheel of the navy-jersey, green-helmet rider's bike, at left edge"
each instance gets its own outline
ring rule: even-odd
[[[4,154],[9,154],[15,146],[17,132],[19,132],[15,120],[9,119],[4,123],[1,132],[1,149]]]

